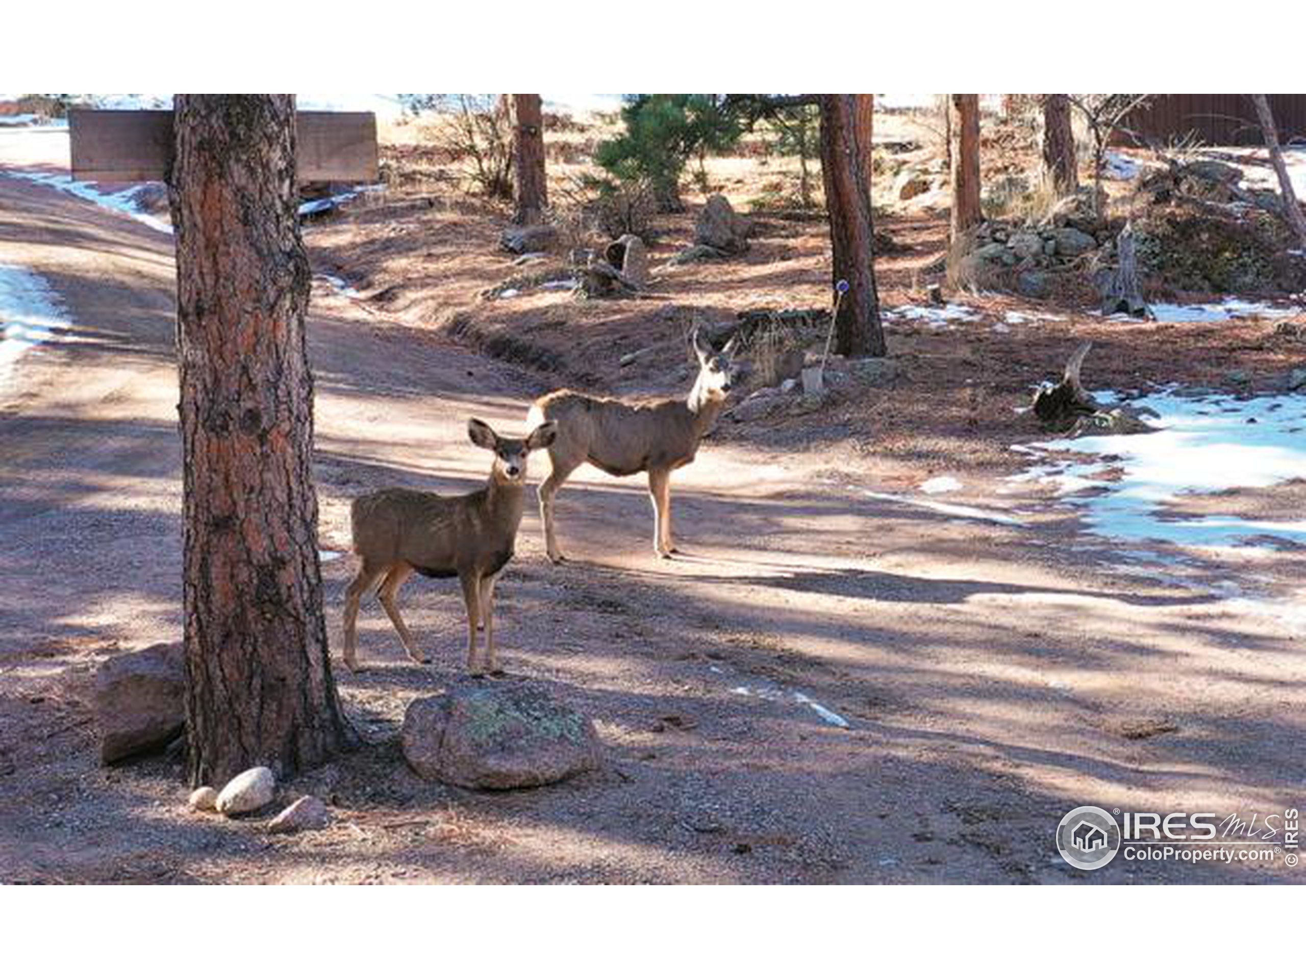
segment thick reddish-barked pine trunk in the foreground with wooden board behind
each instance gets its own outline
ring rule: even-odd
[[[332,679],[293,95],[178,95],[171,172],[191,781],[354,738]]]

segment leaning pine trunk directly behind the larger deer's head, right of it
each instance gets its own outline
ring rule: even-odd
[[[835,282],[849,290],[835,322],[835,349],[845,356],[884,356],[880,300],[872,265],[874,230],[867,162],[857,138],[857,97],[820,97],[820,162],[835,252]]]

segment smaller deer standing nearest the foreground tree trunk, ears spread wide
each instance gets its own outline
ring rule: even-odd
[[[398,590],[413,572],[430,578],[457,578],[468,604],[468,671],[473,676],[500,674],[494,645],[494,585],[512,559],[521,523],[526,488],[526,456],[552,444],[555,426],[538,426],[525,439],[502,439],[473,418],[468,436],[494,454],[490,482],[465,496],[440,496],[421,489],[379,489],[360,496],[350,508],[354,553],[362,559],[357,577],[345,591],[345,664],[358,670],[354,655],[358,603],[380,582],[376,597],[400,634],[404,651],[417,663],[428,662],[417,651],[396,603]],[[485,664],[477,662],[477,628],[485,624]]]

